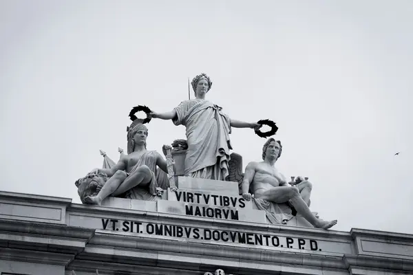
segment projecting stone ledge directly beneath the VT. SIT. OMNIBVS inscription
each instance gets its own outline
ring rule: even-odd
[[[335,253],[314,253],[301,250],[280,251],[251,248],[247,245],[226,245],[224,243],[200,243],[193,240],[177,240],[165,236],[136,236],[134,234],[108,232],[96,230],[96,235],[87,245],[86,252],[99,248],[111,248],[116,250],[151,251],[161,253],[179,253],[191,256],[219,257],[233,259],[233,261],[259,261],[268,263],[303,265],[304,257],[308,257],[306,265],[323,266],[332,268],[346,268],[342,256]],[[109,250],[107,250],[109,252]],[[110,256],[110,253],[107,254]],[[84,254],[84,253],[83,253]],[[101,255],[103,256],[103,255]],[[83,257],[83,256],[82,256]],[[125,253],[127,257],[127,253]]]

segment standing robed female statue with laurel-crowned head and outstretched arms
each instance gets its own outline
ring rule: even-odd
[[[195,99],[182,101],[167,113],[151,112],[148,118],[172,120],[187,127],[185,176],[225,180],[228,172],[231,127],[260,129],[257,123],[231,120],[222,108],[205,99],[212,82],[207,74],[193,78]]]

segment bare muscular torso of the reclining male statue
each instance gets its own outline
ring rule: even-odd
[[[265,162],[255,163],[255,174],[251,182],[251,191],[255,197],[260,197],[266,190],[286,183],[286,177],[279,173],[277,168]]]

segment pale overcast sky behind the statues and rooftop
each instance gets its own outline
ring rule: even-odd
[[[412,14],[408,0],[0,1],[0,190],[80,203],[99,149],[126,151],[131,107],[171,111],[205,72],[230,118],[277,122],[276,166],[310,177],[334,229],[413,233]],[[148,128],[149,150],[185,138]],[[231,142],[244,167],[261,160],[252,129]]]

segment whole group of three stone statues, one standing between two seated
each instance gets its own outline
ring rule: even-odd
[[[240,195],[253,200],[257,209],[265,210],[271,223],[285,223],[300,214],[315,228],[328,229],[337,223],[319,219],[310,211],[312,184],[298,177],[287,181],[275,168],[282,153],[281,142],[268,139],[262,149],[262,162],[250,162],[244,175],[237,161],[231,159],[229,135],[232,128],[251,128],[257,131],[262,124],[234,120],[222,107],[206,100],[212,82],[207,74],[193,78],[195,98],[184,100],[172,111],[147,113],[147,120],[172,120],[186,127],[187,140],[176,140],[173,148],[164,145],[165,160],[157,151],[147,151],[148,129],[136,118],[127,128],[127,155],[121,154],[111,168],[95,168],[76,181],[83,203],[100,205],[106,197],[156,200],[167,188],[175,191],[174,162],[171,151],[186,150],[184,176],[219,181],[238,181]],[[239,164],[239,163],[238,163]],[[178,186],[179,187],[179,186]]]

